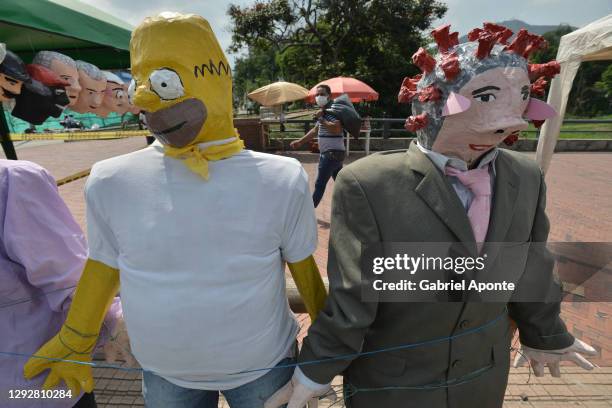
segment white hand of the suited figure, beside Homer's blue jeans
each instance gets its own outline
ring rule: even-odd
[[[319,397],[323,396],[331,402],[338,398],[330,384],[315,383],[296,367],[291,381],[272,394],[264,403],[264,408],[278,408],[284,404],[288,404],[287,408],[303,408],[306,404],[308,408],[318,408]]]

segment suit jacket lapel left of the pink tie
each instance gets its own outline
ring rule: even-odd
[[[472,226],[453,187],[431,160],[419,150],[416,143],[411,143],[408,154],[411,155],[408,160],[410,168],[423,175],[415,192],[467,247],[468,251],[476,254]]]

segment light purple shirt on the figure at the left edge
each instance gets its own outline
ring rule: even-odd
[[[85,237],[53,177],[34,163],[0,160],[0,351],[33,354],[59,331],[86,260]],[[105,326],[120,315],[116,298]],[[42,388],[48,371],[27,381],[26,361],[0,354],[0,407],[74,405],[9,399],[11,389]]]

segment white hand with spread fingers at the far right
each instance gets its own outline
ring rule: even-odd
[[[561,377],[559,368],[561,361],[573,361],[585,370],[592,370],[595,366],[581,353],[593,356],[597,354],[597,351],[578,339],[575,339],[571,346],[559,350],[537,350],[521,345],[520,352],[514,358],[514,367],[520,367],[529,360],[536,377],[544,375],[545,365],[548,366],[548,370],[553,377]]]

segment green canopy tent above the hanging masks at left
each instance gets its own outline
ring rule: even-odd
[[[78,0],[0,1],[0,42],[25,63],[38,51],[58,51],[103,69],[128,68],[132,27]],[[0,141],[9,159],[17,159],[4,115]]]

